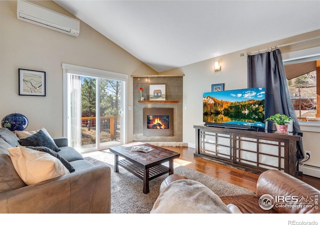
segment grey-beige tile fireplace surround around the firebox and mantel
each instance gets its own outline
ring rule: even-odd
[[[182,87],[183,75],[150,75],[133,77],[133,140],[150,142],[162,146],[187,146],[182,143]],[[166,100],[175,103],[147,102],[149,85],[165,84]],[[139,88],[142,87],[144,102],[140,100]],[[173,136],[143,136],[143,108],[173,108]]]

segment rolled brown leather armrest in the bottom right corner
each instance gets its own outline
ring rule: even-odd
[[[297,196],[295,197],[295,199],[298,198],[297,203],[288,204],[294,204],[301,207],[276,207],[274,205],[272,209],[277,213],[320,212],[320,209],[315,206],[304,207],[305,203],[314,203],[314,198],[320,194],[320,190],[277,169],[269,169],[260,174],[256,183],[256,195],[260,197],[263,194],[284,196],[288,198]]]

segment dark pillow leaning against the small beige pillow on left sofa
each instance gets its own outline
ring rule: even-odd
[[[54,150],[55,152],[58,152],[60,150],[60,148],[56,146],[54,141],[50,137],[48,137],[41,129],[31,136],[19,139],[18,142],[22,146],[45,146],[50,148],[51,150]]]

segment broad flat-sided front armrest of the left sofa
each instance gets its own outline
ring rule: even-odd
[[[0,213],[109,213],[111,170],[97,165],[0,193]]]

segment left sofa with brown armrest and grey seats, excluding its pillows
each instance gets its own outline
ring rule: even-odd
[[[109,166],[94,166],[67,146],[65,137],[53,138],[61,149],[57,153],[67,159],[75,171],[26,185],[15,171],[7,151],[18,144],[17,139],[11,131],[0,128],[0,213],[110,212]]]

